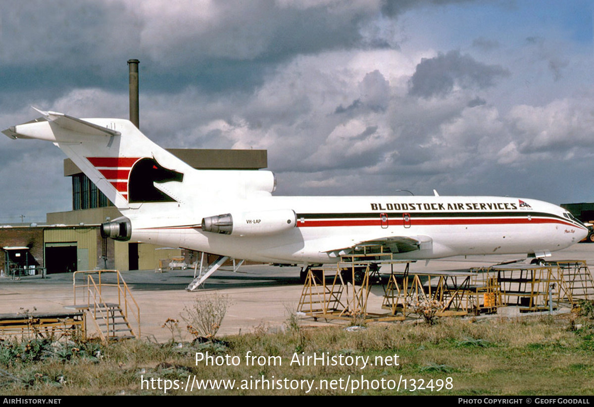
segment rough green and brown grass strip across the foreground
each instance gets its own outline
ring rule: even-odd
[[[594,393],[594,328],[587,317],[576,318],[582,327],[574,330],[567,329],[567,316],[480,322],[440,319],[432,326],[371,324],[354,332],[290,322],[287,325],[292,327],[284,332],[268,333],[260,326],[247,334],[181,346],[174,341],[109,346],[95,341],[4,341],[0,342],[0,391],[3,395],[157,395],[165,393],[166,380],[178,380],[181,386],[171,386],[167,394],[185,395],[189,394],[184,390],[188,377],[195,377],[236,383],[233,390],[194,389],[195,395],[306,393],[307,387],[279,389],[279,385],[272,390],[262,389],[262,383],[256,389],[255,380],[264,376],[269,381],[274,377],[315,382],[308,394],[319,395],[350,394],[350,388],[345,393],[339,387],[340,381],[365,379],[369,388],[359,384],[353,393],[388,395],[396,390],[374,389],[373,381],[397,384],[402,375],[431,383],[433,392],[401,388],[399,394],[590,395]],[[198,363],[197,352],[203,357]],[[301,362],[314,354],[329,358],[330,364],[321,365],[319,359],[315,366],[312,360]],[[211,358],[208,365],[206,355]],[[333,360],[343,363],[333,364]],[[362,360],[367,361],[364,368]],[[444,384],[447,378],[451,388],[437,392],[437,380]]]

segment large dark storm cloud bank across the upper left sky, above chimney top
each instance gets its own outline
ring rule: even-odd
[[[125,88],[125,61],[138,58],[143,91],[250,91],[295,55],[386,47],[359,27],[379,2],[304,7],[272,0],[192,2],[71,0],[2,5],[0,90]],[[175,11],[186,7],[185,13]],[[307,27],[304,29],[304,27]],[[124,72],[124,74],[122,74]],[[35,78],[31,81],[30,78]]]

